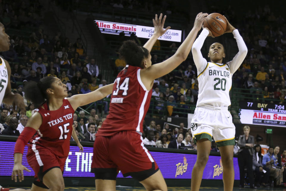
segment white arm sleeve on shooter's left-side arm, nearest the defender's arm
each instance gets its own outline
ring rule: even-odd
[[[195,40],[192,46],[193,59],[198,69],[198,75],[206,68],[206,65],[208,64],[208,62],[206,61],[205,58],[203,58],[203,55],[200,52],[200,49],[203,46],[203,42],[205,41],[208,35],[209,35],[209,31],[206,29],[203,29],[203,31],[200,33],[199,37]]]

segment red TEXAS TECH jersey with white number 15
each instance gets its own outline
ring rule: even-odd
[[[56,156],[62,158],[69,155],[69,146],[72,133],[74,110],[69,101],[64,98],[63,105],[50,111],[48,104],[44,103],[37,111],[42,116],[42,124],[30,140],[30,147],[34,150],[40,147],[51,150]]]

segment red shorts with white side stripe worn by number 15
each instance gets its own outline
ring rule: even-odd
[[[38,187],[48,189],[43,184],[43,176],[53,168],[60,168],[63,172],[66,158],[59,158],[49,149],[30,144],[27,161],[35,172],[35,181],[33,183]]]

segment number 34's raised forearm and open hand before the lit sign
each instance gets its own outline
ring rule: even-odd
[[[151,38],[149,38],[149,40],[144,44],[144,48],[146,48],[149,52],[151,51],[152,47],[154,46],[156,40],[162,36],[163,34],[166,33],[166,31],[168,29],[170,29],[171,27],[167,27],[166,29],[164,29],[164,23],[166,20],[166,15],[163,17],[162,20],[162,16],[163,14],[161,13],[158,19],[157,14],[155,15],[155,19],[153,19],[153,24],[154,24],[154,34],[152,35]]]

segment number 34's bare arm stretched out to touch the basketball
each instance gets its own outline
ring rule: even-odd
[[[191,51],[192,45],[195,41],[198,31],[200,30],[200,27],[203,24],[203,20],[207,15],[208,15],[207,13],[199,13],[196,16],[194,27],[192,28],[185,41],[181,44],[181,46],[178,48],[178,50],[173,56],[171,56],[164,62],[154,64],[148,67],[146,70],[141,71],[141,77],[143,78],[143,80],[144,78],[154,80],[156,78],[164,76],[167,73],[170,73],[176,67],[178,67],[178,65],[181,64],[184,60],[186,60],[189,52]]]

